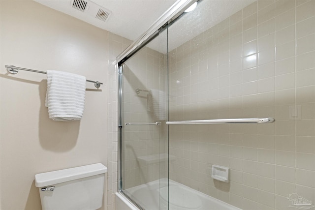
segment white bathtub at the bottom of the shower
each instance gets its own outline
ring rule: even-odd
[[[155,180],[129,188],[126,190],[126,193],[131,194],[132,198],[146,210],[167,210],[167,190],[167,181]],[[119,193],[117,193],[115,199],[115,210],[138,210],[125,196]],[[122,205],[125,205],[124,208],[120,208]],[[127,208],[126,206],[131,207]],[[169,209],[240,210],[173,180],[169,180]]]

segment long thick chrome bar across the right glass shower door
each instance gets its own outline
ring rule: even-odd
[[[269,123],[274,122],[273,118],[237,118],[237,119],[217,119],[217,120],[186,120],[167,121],[166,124],[222,124],[222,123]]]

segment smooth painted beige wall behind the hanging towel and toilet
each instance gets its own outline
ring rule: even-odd
[[[1,0],[0,18],[1,210],[40,210],[35,174],[107,166],[109,32],[31,0]],[[44,105],[46,76],[9,75],[5,64],[77,73],[104,85],[95,91],[87,83],[82,120],[53,121]]]

